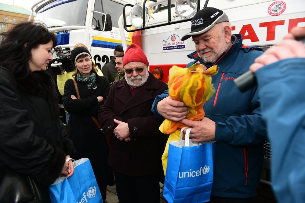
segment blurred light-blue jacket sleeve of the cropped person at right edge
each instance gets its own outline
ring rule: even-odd
[[[305,58],[256,71],[272,149],[272,188],[279,203],[305,201]]]

